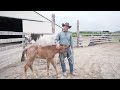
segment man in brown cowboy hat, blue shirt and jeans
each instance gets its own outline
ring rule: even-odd
[[[72,40],[72,34],[68,31],[68,29],[71,28],[69,26],[69,23],[62,24],[63,30],[62,32],[58,33],[56,36],[55,42],[56,42],[56,48],[59,49],[60,45],[67,45],[69,48],[67,48],[67,58],[69,61],[69,67],[70,67],[70,73],[72,75],[76,75],[74,72],[74,58],[73,58],[73,40]],[[62,72],[64,76],[67,76],[66,73],[66,65],[64,62],[64,55],[63,53],[59,53],[59,58],[61,62]]]

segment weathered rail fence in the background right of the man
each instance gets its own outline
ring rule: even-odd
[[[120,34],[80,34],[79,39],[77,38],[78,37],[74,38],[74,45],[77,47],[83,47],[84,42],[87,42],[86,46],[109,42],[120,42]]]

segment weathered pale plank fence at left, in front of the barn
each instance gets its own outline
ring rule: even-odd
[[[35,33],[34,33],[35,34]],[[52,35],[52,33],[37,33],[40,35]],[[25,32],[0,31],[0,35],[21,35],[21,38],[0,39],[0,69],[14,62],[20,61],[25,47]]]

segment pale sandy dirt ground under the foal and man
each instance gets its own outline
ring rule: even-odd
[[[58,55],[55,56],[58,62]],[[16,62],[0,70],[0,79],[24,79],[26,62]],[[120,79],[120,43],[106,43],[95,46],[74,48],[74,67],[77,76],[69,74],[68,60],[65,59],[68,77],[64,77],[60,64],[57,64],[59,78],[50,65],[50,75],[47,76],[45,60],[36,60],[33,68],[38,79]],[[35,79],[30,69],[28,78]]]

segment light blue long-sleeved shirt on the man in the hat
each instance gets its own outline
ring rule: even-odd
[[[59,43],[62,45],[70,45],[71,48],[73,48],[73,39],[72,39],[72,34],[71,32],[67,31],[67,32],[60,32],[57,34],[56,39],[55,39],[55,43]]]

